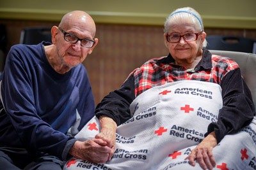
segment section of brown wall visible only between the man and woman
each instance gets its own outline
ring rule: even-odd
[[[99,44],[84,61],[96,102],[143,62],[167,54],[161,27],[98,24],[96,34]]]

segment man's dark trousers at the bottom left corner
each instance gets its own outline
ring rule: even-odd
[[[0,170],[61,170],[63,164],[63,161],[48,154],[31,157],[24,148],[0,147]]]

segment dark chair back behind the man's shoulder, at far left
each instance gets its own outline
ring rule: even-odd
[[[36,45],[42,41],[52,42],[50,27],[27,27],[21,31],[21,44]]]

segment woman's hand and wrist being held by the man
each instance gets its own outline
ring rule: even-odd
[[[111,148],[111,152],[109,152],[108,160],[111,160],[115,152],[116,145],[116,123],[109,117],[100,117],[100,133],[95,136],[95,139],[102,139],[106,141],[109,148]]]

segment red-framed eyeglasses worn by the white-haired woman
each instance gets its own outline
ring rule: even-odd
[[[196,39],[198,39],[199,34],[201,34],[201,32],[198,33],[188,33],[188,34],[184,34],[182,36],[180,36],[179,34],[166,34],[166,40],[169,43],[178,43],[180,41],[180,38],[183,38],[184,41],[191,42],[191,41],[196,41]]]

